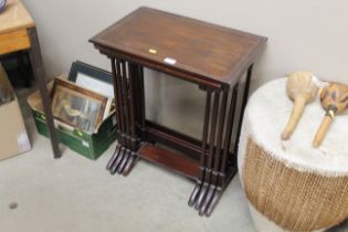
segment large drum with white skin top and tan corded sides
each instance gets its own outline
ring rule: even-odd
[[[348,219],[348,117],[335,118],[323,145],[312,141],[325,112],[309,104],[291,140],[281,134],[293,103],[286,78],[257,89],[245,110],[239,170],[256,230],[315,231]]]

